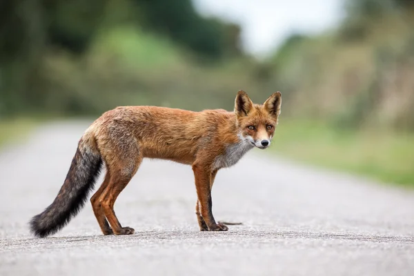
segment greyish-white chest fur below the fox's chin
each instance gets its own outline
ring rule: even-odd
[[[228,168],[235,165],[243,155],[252,149],[254,146],[246,139],[240,140],[239,143],[233,144],[226,148],[224,155],[219,155],[216,157],[213,164],[214,168]]]

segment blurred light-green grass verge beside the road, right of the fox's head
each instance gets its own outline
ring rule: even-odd
[[[308,164],[414,188],[414,133],[349,130],[281,119],[274,152]]]

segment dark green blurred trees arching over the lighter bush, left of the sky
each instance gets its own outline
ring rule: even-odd
[[[85,95],[74,92],[79,90],[75,85],[66,94],[61,88],[50,89],[51,83],[75,78],[46,69],[50,58],[65,60],[59,68],[75,66],[86,60],[96,34],[123,25],[169,37],[172,44],[179,44],[202,61],[242,55],[239,26],[201,17],[191,0],[3,0],[0,115],[43,110],[57,98],[66,106],[72,102],[70,110],[74,112],[81,109]]]

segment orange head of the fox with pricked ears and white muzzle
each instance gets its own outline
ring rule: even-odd
[[[275,134],[282,94],[275,92],[263,104],[255,104],[240,90],[235,99],[239,137],[257,148],[265,149]]]

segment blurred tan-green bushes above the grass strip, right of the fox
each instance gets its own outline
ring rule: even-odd
[[[337,30],[288,39],[273,57],[284,115],[413,130],[413,30],[412,1],[348,0]]]

